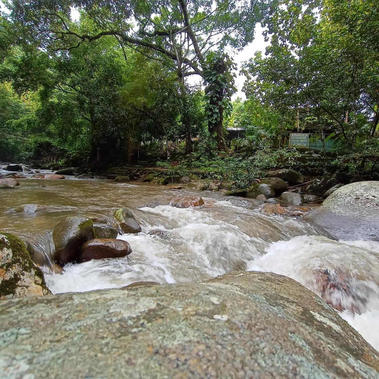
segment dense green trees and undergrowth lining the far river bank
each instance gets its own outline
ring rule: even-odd
[[[257,23],[269,44],[251,51],[246,100],[232,102],[233,54]],[[168,159],[240,186],[279,166],[377,178],[378,33],[374,0],[4,2],[0,159]],[[226,143],[228,127],[243,138]],[[301,130],[334,139],[327,164],[287,147]]]

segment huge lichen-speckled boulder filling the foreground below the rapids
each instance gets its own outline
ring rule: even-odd
[[[272,273],[5,301],[0,334],[4,379],[379,377],[332,307]]]

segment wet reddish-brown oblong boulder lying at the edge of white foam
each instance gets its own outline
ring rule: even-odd
[[[81,246],[77,261],[88,262],[92,259],[121,258],[129,255],[132,251],[126,241],[97,238],[87,241]]]

